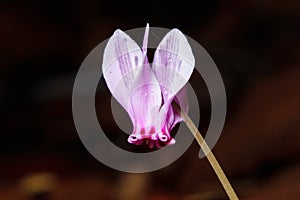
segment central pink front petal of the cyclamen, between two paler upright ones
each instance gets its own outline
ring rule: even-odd
[[[147,60],[133,84],[130,100],[135,121],[133,134],[128,141],[131,142],[132,138],[153,139],[152,135],[159,132],[166,121],[166,113],[160,110],[160,85]]]

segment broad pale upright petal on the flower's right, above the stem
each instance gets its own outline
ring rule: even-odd
[[[195,58],[186,37],[178,29],[171,30],[158,45],[153,59],[153,71],[165,103],[170,103],[188,82],[194,65]]]

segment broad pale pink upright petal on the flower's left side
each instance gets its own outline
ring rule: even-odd
[[[130,92],[144,62],[141,48],[126,33],[116,30],[109,39],[103,55],[103,76],[116,100],[131,119]]]

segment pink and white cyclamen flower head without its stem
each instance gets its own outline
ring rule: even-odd
[[[147,24],[141,49],[126,33],[116,30],[104,50],[102,70],[110,92],[133,123],[128,142],[161,148],[175,143],[170,132],[182,121],[172,101],[188,111],[186,83],[195,58],[186,37],[173,29],[158,45],[151,67],[148,35]]]

